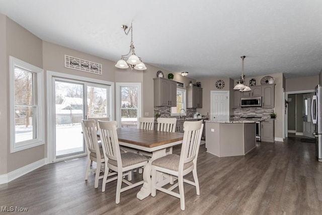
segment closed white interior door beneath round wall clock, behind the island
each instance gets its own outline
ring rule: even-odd
[[[211,91],[212,120],[229,119],[229,91]]]

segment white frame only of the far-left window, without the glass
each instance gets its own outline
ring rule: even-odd
[[[34,109],[36,111],[33,113],[36,122],[35,127],[33,127],[33,132],[36,132],[36,138],[31,140],[25,140],[16,142],[16,125],[15,125],[15,67],[20,67],[34,74],[33,79],[33,95],[35,103]],[[30,149],[36,146],[44,145],[45,136],[45,117],[44,117],[44,107],[45,107],[45,97],[44,97],[44,70],[35,65],[27,63],[23,60],[9,56],[9,85],[10,85],[10,153],[19,152],[22,150]],[[34,125],[33,125],[34,126]]]

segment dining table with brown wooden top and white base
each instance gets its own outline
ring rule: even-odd
[[[142,200],[151,193],[152,162],[157,158],[166,156],[166,148],[182,144],[184,134],[137,128],[118,128],[117,135],[120,146],[152,153],[151,159],[143,170],[143,186],[136,194],[136,197]]]

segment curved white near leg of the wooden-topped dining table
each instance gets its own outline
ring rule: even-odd
[[[152,162],[155,159],[158,159],[160,157],[166,156],[166,149],[162,150],[157,150],[152,152],[152,157],[149,160],[149,162],[145,165],[144,170],[143,170],[143,186],[141,187],[140,191],[136,194],[136,197],[140,200],[143,198],[146,198],[147,196],[150,195],[151,193],[151,170],[152,170]]]

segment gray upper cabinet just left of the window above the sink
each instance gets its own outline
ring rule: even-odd
[[[165,78],[154,78],[153,87],[154,106],[177,106],[177,82]]]

